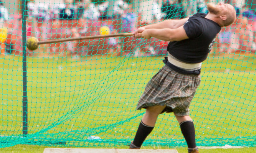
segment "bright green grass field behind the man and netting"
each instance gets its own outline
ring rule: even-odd
[[[125,148],[144,114],[135,110],[137,101],[163,63],[161,57],[86,56],[28,58],[27,66],[29,137],[23,142],[10,138],[12,142],[0,147],[11,147],[0,151],[42,152],[46,146],[36,146],[38,140],[53,139],[65,140],[67,147]],[[0,135],[22,136],[22,58],[1,56],[0,67]],[[210,56],[203,63],[201,85],[190,106],[198,146],[251,148],[202,152],[255,152],[255,69],[255,55]],[[172,114],[160,115],[156,127],[145,148],[177,146],[179,152],[186,151]],[[88,142],[90,135],[107,143]],[[20,145],[35,141],[35,146]]]

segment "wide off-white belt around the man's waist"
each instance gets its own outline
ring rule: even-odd
[[[168,54],[167,58],[171,64],[173,64],[177,67],[180,67],[182,69],[188,70],[188,71],[201,69],[201,66],[202,66],[202,63],[195,63],[195,64],[183,63],[182,61],[178,61],[178,59],[176,59],[175,57],[173,57],[170,54]]]

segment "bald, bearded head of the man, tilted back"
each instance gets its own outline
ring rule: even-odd
[[[236,19],[236,10],[230,4],[218,3],[215,5],[213,3],[208,3],[207,9],[209,14],[215,16],[216,22],[220,26],[231,25]]]

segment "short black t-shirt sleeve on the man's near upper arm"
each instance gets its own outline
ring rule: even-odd
[[[197,38],[203,32],[200,21],[196,19],[189,19],[183,27],[190,39]]]

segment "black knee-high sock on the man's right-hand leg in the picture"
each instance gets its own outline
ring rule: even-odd
[[[184,121],[180,123],[181,132],[188,144],[188,148],[195,148],[196,140],[195,140],[195,127],[193,121]]]

